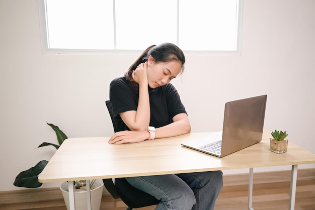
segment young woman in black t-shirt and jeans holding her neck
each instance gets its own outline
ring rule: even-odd
[[[111,82],[110,101],[117,132],[110,138],[110,144],[142,142],[190,132],[185,108],[170,83],[183,72],[184,63],[184,53],[176,45],[152,45],[124,77]],[[126,179],[132,186],[161,200],[155,209],[213,209],[223,185],[221,171]]]

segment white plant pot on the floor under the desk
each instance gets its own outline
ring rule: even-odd
[[[97,187],[91,190],[92,210],[100,210],[104,183],[102,179],[97,179],[94,184],[96,184]],[[70,209],[69,208],[68,182],[66,181],[62,182],[60,185],[60,189],[63,195],[65,205],[67,209]],[[75,210],[88,209],[87,192],[86,191],[74,192],[74,203],[75,203]]]

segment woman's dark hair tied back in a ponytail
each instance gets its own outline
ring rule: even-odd
[[[131,87],[138,91],[138,84],[132,78],[132,72],[137,68],[140,63],[144,63],[148,60],[149,56],[154,58],[155,62],[168,63],[171,61],[179,61],[182,63],[181,73],[184,71],[185,55],[183,51],[172,43],[163,43],[160,45],[151,45],[146,48],[138,59],[129,67],[125,73],[125,77],[130,81]],[[180,73],[180,74],[181,74]]]

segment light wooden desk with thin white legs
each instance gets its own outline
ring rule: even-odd
[[[262,142],[223,158],[181,146],[185,140],[209,134],[190,133],[123,145],[108,144],[110,137],[70,138],[63,142],[38,179],[59,182],[249,168],[249,209],[253,209],[253,168],[292,165],[289,209],[294,209],[297,165],[315,163],[315,154],[290,141],[286,153],[273,153],[269,150],[269,131],[264,132]],[[71,190],[69,195],[70,206],[71,203],[74,206]]]

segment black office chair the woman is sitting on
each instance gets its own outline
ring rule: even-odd
[[[106,100],[106,107],[111,116],[114,132],[116,132],[117,126],[110,100]],[[114,198],[120,197],[121,200],[128,205],[127,210],[160,203],[160,200],[156,199],[154,196],[130,185],[125,178],[116,178],[115,183],[112,179],[103,179],[103,183],[105,188]]]

